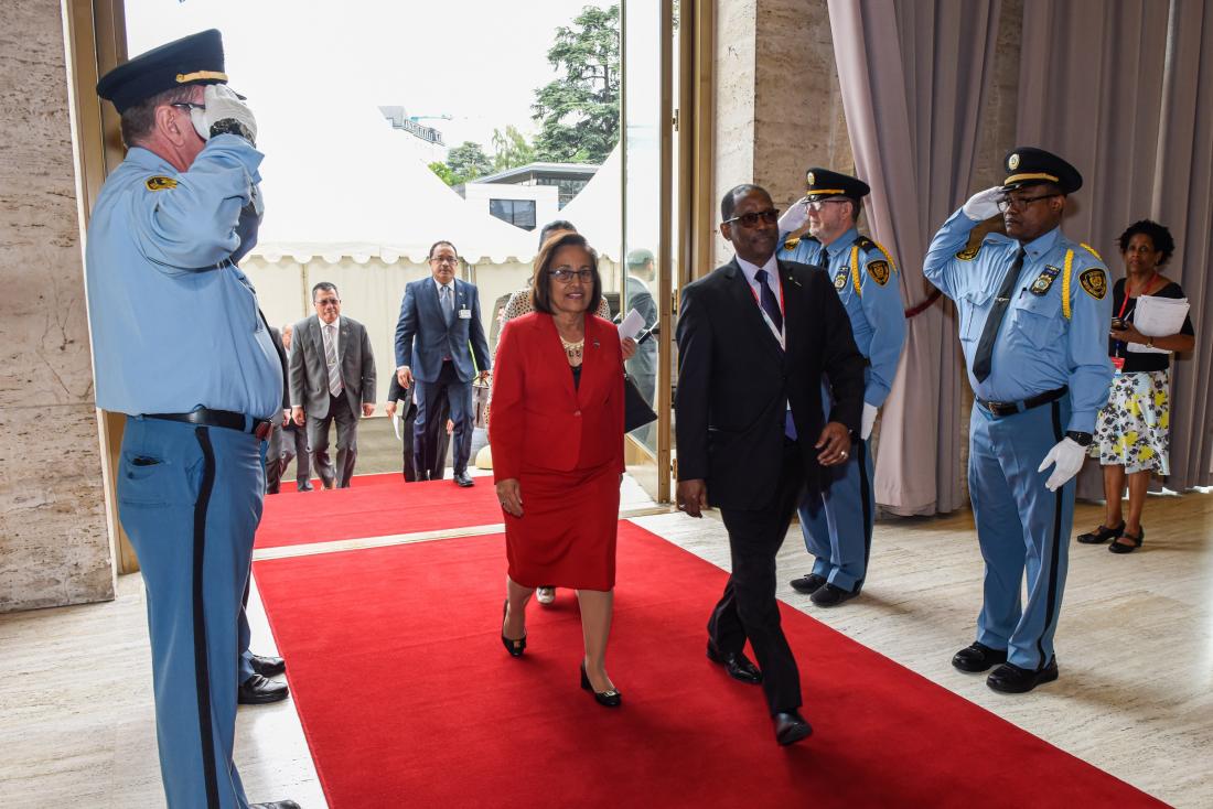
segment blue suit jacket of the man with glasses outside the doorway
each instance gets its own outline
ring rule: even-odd
[[[404,287],[400,319],[395,324],[395,365],[408,365],[420,382],[437,382],[443,357],[450,357],[461,382],[475,378],[492,361],[480,323],[480,294],[474,284],[455,279],[455,314],[446,321],[434,279],[422,278]],[[469,317],[461,318],[461,311]],[[473,365],[473,354],[475,364]]]

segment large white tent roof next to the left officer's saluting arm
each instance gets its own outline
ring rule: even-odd
[[[376,107],[329,97],[323,119],[300,114],[314,104],[278,97],[257,108],[266,218],[256,255],[423,263],[444,239],[469,262],[530,260],[533,234],[468,205]]]

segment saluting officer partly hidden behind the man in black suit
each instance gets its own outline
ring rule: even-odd
[[[832,471],[830,488],[807,496],[799,507],[804,547],[816,562],[810,574],[792,581],[792,588],[811,593],[819,606],[837,606],[859,596],[867,575],[876,509],[867,439],[893,387],[906,323],[893,258],[855,229],[859,200],[871,188],[862,180],[826,169],[809,169],[805,180],[808,194],[780,220],[784,246],[779,257],[827,269],[850,319],[855,344],[867,359],[860,440],[852,457]],[[805,222],[809,235],[787,238]],[[828,410],[830,392],[822,395]]]

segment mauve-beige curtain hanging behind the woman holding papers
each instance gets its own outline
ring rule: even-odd
[[[1083,173],[1064,229],[1123,275],[1116,238],[1150,217],[1178,245],[1197,347],[1174,366],[1168,488],[1208,485],[1213,335],[1205,312],[1213,244],[1213,10],[1207,0],[1025,0],[1016,141]],[[1103,497],[1088,463],[1082,497]]]

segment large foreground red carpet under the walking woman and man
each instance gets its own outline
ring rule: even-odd
[[[779,747],[704,656],[724,574],[630,523],[615,711],[577,688],[570,592],[502,649],[501,535],[255,569],[334,809],[1163,805],[786,606],[815,735]]]

